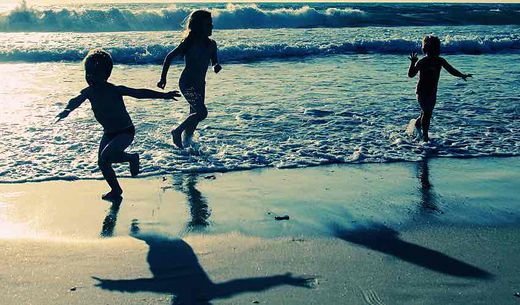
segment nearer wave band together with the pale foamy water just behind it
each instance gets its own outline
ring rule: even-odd
[[[520,28],[473,26],[440,33],[446,54],[520,52]],[[442,35],[445,33],[444,35]],[[417,28],[284,29],[216,31],[223,62],[263,61],[334,54],[408,54],[420,50],[425,33]],[[0,33],[0,61],[80,61],[89,49],[103,47],[116,63],[161,63],[179,43],[178,32]]]

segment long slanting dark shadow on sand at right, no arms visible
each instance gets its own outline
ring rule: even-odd
[[[397,257],[435,272],[463,278],[491,279],[493,277],[483,269],[444,253],[402,240],[399,232],[380,223],[358,225],[351,229],[333,224],[331,229],[334,236],[344,241]]]

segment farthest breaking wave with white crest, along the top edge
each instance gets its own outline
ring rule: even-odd
[[[505,4],[228,4],[209,7],[215,28],[519,25],[520,6]],[[25,4],[0,15],[0,31],[112,32],[179,30],[193,7],[62,7]]]

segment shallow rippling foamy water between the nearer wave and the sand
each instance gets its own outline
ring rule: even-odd
[[[407,59],[365,54],[226,65],[208,77],[209,117],[185,151],[169,136],[187,114],[185,101],[127,99],[137,127],[131,150],[142,155],[145,175],[518,155],[520,67],[509,63],[520,55],[447,58],[475,77],[465,83],[443,73],[428,145],[405,133],[419,112]],[[0,69],[0,179],[99,177],[101,128],[88,102],[53,124],[84,86],[81,66],[10,63]],[[176,88],[178,66],[171,71],[168,87]],[[160,66],[118,65],[111,80],[152,88],[159,73]]]

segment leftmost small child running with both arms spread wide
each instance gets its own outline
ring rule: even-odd
[[[56,117],[58,121],[66,118],[74,109],[87,99],[90,101],[94,117],[103,126],[103,137],[99,144],[98,164],[103,177],[110,186],[110,192],[101,198],[108,201],[121,200],[123,190],[119,186],[112,163],[130,163],[132,177],[139,174],[139,154],[129,154],[125,149],[132,143],[135,128],[123,101],[123,96],[138,99],[173,99],[180,97],[178,91],[167,93],[148,89],[134,89],[116,86],[108,82],[112,73],[112,57],[109,53],[95,49],[91,50],[84,60],[85,79],[88,87],[72,98],[65,110]]]

